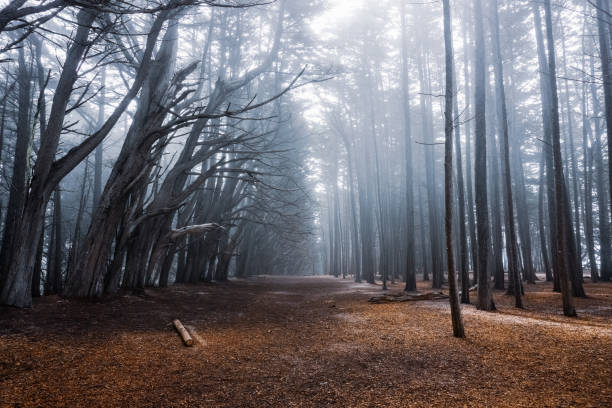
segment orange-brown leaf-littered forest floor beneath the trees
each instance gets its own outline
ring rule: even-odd
[[[46,297],[0,308],[0,406],[610,407],[612,284],[585,286],[577,319],[547,283],[524,311],[464,306],[463,340],[447,300],[371,304],[380,286],[331,277]]]

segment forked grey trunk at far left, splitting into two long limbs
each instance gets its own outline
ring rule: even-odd
[[[155,45],[155,39],[161,25],[165,21],[168,11],[161,12],[153,24],[149,34],[148,47],[143,53],[140,75],[136,77],[130,91],[107,122],[97,132],[88,137],[78,147],[73,148],[65,156],[55,159],[60,136],[64,126],[70,95],[78,76],[78,69],[90,47],[88,37],[93,22],[99,15],[99,10],[82,8],[77,14],[77,30],[71,45],[66,52],[66,59],[60,78],[58,80],[49,121],[45,133],[41,135],[41,144],[34,165],[33,177],[29,186],[28,197],[23,207],[19,209],[21,217],[18,220],[16,236],[12,242],[13,254],[10,264],[4,269],[4,282],[0,292],[0,303],[24,307],[30,306],[31,284],[34,273],[34,263],[38,242],[42,232],[44,215],[47,203],[55,187],[74,167],[104,139],[117,122],[131,100],[136,96],[142,84],[142,77],[146,74],[148,60]]]

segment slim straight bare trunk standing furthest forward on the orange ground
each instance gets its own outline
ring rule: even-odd
[[[457,277],[455,275],[455,254],[453,252],[453,36],[451,31],[451,15],[449,0],[443,0],[444,8],[444,47],[446,61],[446,95],[444,103],[444,193],[446,204],[445,231],[446,231],[446,261],[448,267],[448,287],[453,323],[453,335],[465,337],[461,308],[459,306],[459,293],[457,291]]]

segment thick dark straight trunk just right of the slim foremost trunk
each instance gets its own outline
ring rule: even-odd
[[[480,310],[494,310],[491,294],[489,260],[489,210],[487,208],[487,119],[485,44],[481,0],[474,0],[474,139],[475,139],[475,184],[476,224],[478,232],[478,301]]]

